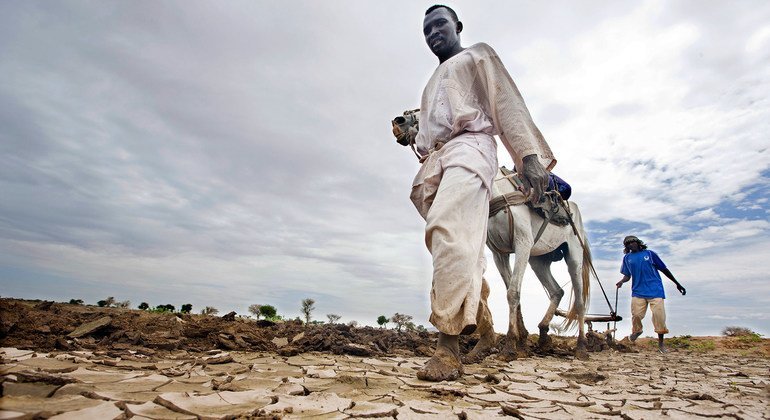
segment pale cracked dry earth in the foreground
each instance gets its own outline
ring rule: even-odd
[[[424,357],[124,353],[0,349],[0,419],[770,418],[762,355],[490,357],[430,383],[415,376]]]

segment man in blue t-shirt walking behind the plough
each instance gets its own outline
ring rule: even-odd
[[[652,312],[652,325],[655,332],[658,333],[658,350],[661,353],[666,352],[663,346],[663,335],[668,333],[666,328],[666,309],[664,300],[666,292],[663,290],[663,280],[661,273],[676,284],[679,293],[685,295],[687,291],[679,284],[671,274],[663,260],[653,251],[647,249],[636,236],[626,236],[623,239],[623,265],[620,267],[620,273],[623,278],[616,284],[621,288],[623,283],[628,280],[631,282],[631,341],[636,341],[642,335],[642,319],[647,313],[647,306],[650,306]]]

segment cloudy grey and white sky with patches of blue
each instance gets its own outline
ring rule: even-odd
[[[0,295],[430,326],[419,164],[390,120],[438,64],[431,4],[0,2]],[[672,335],[770,335],[770,3],[448,4],[521,90],[610,301],[634,234],[687,288],[664,278]],[[546,306],[528,271],[530,332]],[[619,335],[629,306],[625,286]]]

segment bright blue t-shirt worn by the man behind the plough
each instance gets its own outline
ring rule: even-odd
[[[624,276],[631,276],[631,296],[645,299],[665,299],[666,292],[663,290],[663,280],[660,279],[660,273],[658,273],[658,270],[664,268],[666,268],[666,264],[658,257],[658,254],[643,249],[624,255],[620,272]]]

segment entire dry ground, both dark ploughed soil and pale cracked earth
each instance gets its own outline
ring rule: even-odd
[[[0,419],[770,417],[767,339],[675,337],[665,355],[596,340],[581,362],[557,338],[433,384],[415,370],[434,339],[3,299]]]

